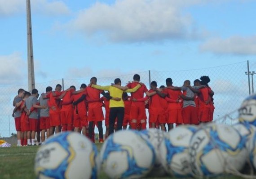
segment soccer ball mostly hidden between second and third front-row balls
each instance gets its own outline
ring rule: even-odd
[[[148,130],[141,131],[141,133],[147,136],[151,144],[154,146],[154,151],[155,151],[154,167],[148,175],[154,176],[154,177],[165,175],[166,172],[160,160],[160,146],[165,137],[165,132],[159,129],[150,128]]]

